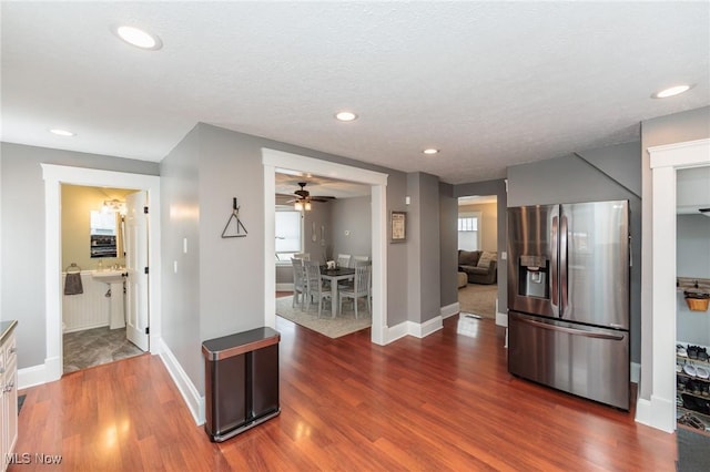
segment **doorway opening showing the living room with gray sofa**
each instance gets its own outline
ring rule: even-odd
[[[459,197],[457,220],[462,316],[495,320],[498,311],[498,197]]]

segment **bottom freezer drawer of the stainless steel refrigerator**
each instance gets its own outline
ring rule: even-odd
[[[628,331],[509,312],[508,370],[528,380],[629,409]]]

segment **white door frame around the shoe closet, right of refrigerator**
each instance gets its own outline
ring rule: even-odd
[[[636,420],[659,430],[676,430],[676,183],[679,168],[710,165],[710,140],[648,148],[652,172],[651,376],[650,399],[639,399]],[[646,322],[642,318],[641,324]],[[650,370],[650,372],[649,372]]]

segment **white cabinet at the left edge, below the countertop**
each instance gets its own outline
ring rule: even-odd
[[[18,440],[18,355],[14,327],[17,321],[0,321],[0,456],[2,470]]]

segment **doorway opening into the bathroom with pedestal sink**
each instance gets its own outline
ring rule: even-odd
[[[129,270],[136,277],[135,261],[146,258],[134,254],[146,250],[145,244],[136,244],[148,237],[146,230],[134,228],[146,216],[140,206],[144,199],[144,192],[134,189],[61,185],[64,373],[148,348],[148,336],[135,329],[135,310],[148,312],[145,297],[135,300],[144,280],[129,281]]]

